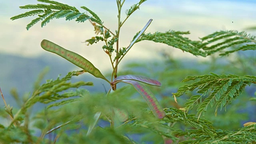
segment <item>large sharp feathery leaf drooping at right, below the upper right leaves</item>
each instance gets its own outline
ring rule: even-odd
[[[208,105],[214,106],[215,104],[215,115],[219,107],[225,107],[231,103],[232,98],[236,99],[237,96],[242,94],[244,87],[254,83],[256,84],[255,76],[236,76],[233,74],[229,75],[218,75],[218,74],[206,74],[202,76],[188,76],[183,81],[197,80],[192,84],[188,84],[178,88],[178,92],[173,93],[174,96],[178,97],[188,91],[197,90],[197,93],[201,95],[192,96],[185,104],[186,108],[190,110],[194,103],[200,100],[200,106],[197,111],[199,116],[206,111]],[[202,96],[208,96],[202,102]]]

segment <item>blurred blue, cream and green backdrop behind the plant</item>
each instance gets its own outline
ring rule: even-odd
[[[138,1],[126,0],[122,9],[122,20],[125,18],[125,10]],[[58,2],[75,6],[78,9],[80,6],[86,6],[104,21],[104,26],[112,31],[117,28],[115,0],[58,0]],[[64,18],[54,19],[43,28],[38,23],[30,30],[26,30],[26,25],[34,17],[14,21],[10,18],[27,12],[28,10],[19,8],[27,4],[38,4],[38,2],[36,0],[0,1],[0,88],[7,104],[14,108],[17,107],[10,91],[15,88],[19,96],[29,95],[39,73],[46,66],[49,72],[44,79],[56,79],[59,74],[66,75],[70,71],[80,70],[56,54],[43,50],[40,47],[43,39],[84,56],[103,74],[109,76],[111,65],[108,55],[102,50],[104,43],[98,42],[92,46],[82,43],[95,36],[94,28],[89,21],[77,23],[75,20],[65,21]],[[148,0],[123,25],[120,33],[120,47],[128,46],[136,32],[140,31],[151,18],[153,22],[146,33],[168,30],[190,31],[188,38],[192,40],[199,40],[199,37],[218,30],[246,31],[248,34],[256,35],[256,30],[248,29],[256,26],[255,8],[255,0]],[[186,76],[209,74],[209,72],[239,76],[256,75],[255,56],[256,53],[250,50],[236,52],[225,57],[213,55],[203,58],[164,44],[142,41],[133,46],[126,58],[122,60],[118,71],[119,75],[137,74],[158,79],[163,86],[161,89],[152,88],[152,91],[162,100],[162,107],[182,108],[182,104],[186,102],[186,98],[192,96],[192,93],[178,98],[179,103],[176,104],[172,99],[172,92],[176,92],[177,88],[183,85],[180,82]],[[107,86],[103,80],[93,78],[90,74],[83,74],[72,80],[92,81],[93,87],[84,87],[91,92],[104,92],[102,84]],[[234,101],[228,107],[227,113],[222,110],[218,118],[215,118],[214,110],[212,110],[206,114],[206,118],[214,122],[216,126],[220,126],[221,123],[221,128],[226,129],[230,129],[230,125],[236,125],[232,127],[236,129],[241,127],[243,122],[255,122],[255,102],[248,100],[254,96],[254,92],[254,85],[246,87],[244,95],[239,96],[239,100]],[[241,104],[240,100],[245,102]],[[38,104],[37,108],[41,106],[43,105]],[[0,100],[0,107],[4,107],[2,100]],[[230,115],[237,116],[237,118],[224,121]]]

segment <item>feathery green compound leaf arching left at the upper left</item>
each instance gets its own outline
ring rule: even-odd
[[[39,18],[36,18],[30,22],[26,29],[28,30],[31,28],[34,24],[42,20],[41,27],[46,26],[50,20],[54,18],[66,18],[66,20],[73,20],[76,19],[77,22],[84,22],[88,19],[92,20],[92,22],[96,22],[100,25],[103,24],[102,20],[98,17],[97,14],[92,12],[90,9],[86,8],[85,6],[82,6],[84,10],[90,12],[92,14],[92,17],[88,16],[87,14],[80,13],[75,7],[69,6],[67,4],[62,4],[60,2],[55,2],[51,0],[38,0],[38,2],[44,2],[47,4],[29,4],[26,6],[20,6],[22,9],[44,9],[44,10],[32,10],[29,12],[25,12],[24,14],[19,14],[17,16],[13,16],[10,18],[11,20],[16,20],[18,18],[23,18],[27,16],[34,16],[38,15]],[[39,15],[42,14],[42,15]]]

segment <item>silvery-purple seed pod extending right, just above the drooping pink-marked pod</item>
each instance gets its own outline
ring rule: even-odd
[[[153,86],[161,86],[161,83],[158,80],[153,80],[151,78],[147,78],[144,76],[134,76],[134,75],[124,75],[124,76],[118,76],[114,79],[114,84],[120,82],[121,80],[136,80],[139,82],[143,82],[145,84],[150,84]]]

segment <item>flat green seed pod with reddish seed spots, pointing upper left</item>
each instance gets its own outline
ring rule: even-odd
[[[62,56],[66,60],[72,62],[76,66],[86,70],[90,74],[94,75],[97,78],[102,78],[109,82],[98,70],[95,68],[95,66],[88,60],[86,60],[84,57],[80,56],[79,54],[76,54],[74,52],[71,52],[69,50],[66,50],[65,48],[62,48],[61,46],[58,46],[57,44],[54,44],[53,42],[50,42],[49,40],[42,40],[41,47],[44,50],[47,50],[49,52],[53,52],[55,54],[58,54],[59,56]]]

